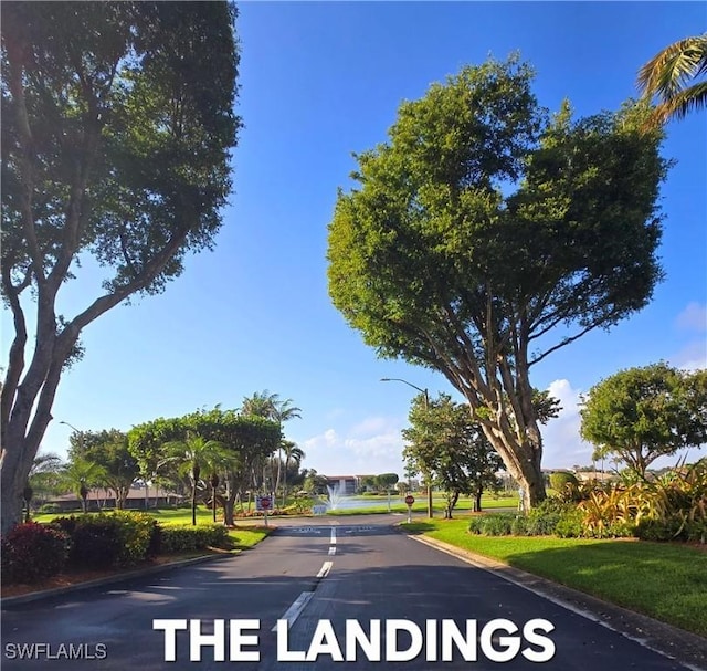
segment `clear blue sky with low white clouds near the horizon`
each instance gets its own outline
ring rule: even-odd
[[[285,433],[326,475],[397,472],[414,387],[453,392],[440,374],[379,359],[331,305],[327,226],[352,153],[384,141],[404,99],[466,64],[519,51],[541,105],[569,98],[578,116],[637,94],[639,67],[707,30],[703,2],[244,2],[234,192],[212,252],[191,256],[158,296],[118,306],[87,327],[67,371],[43,452],[64,457],[72,429],[131,426],[200,408],[238,408],[265,389],[302,418]],[[214,45],[215,48],[215,45]],[[651,304],[534,367],[535,387],[563,410],[544,430],[545,468],[591,464],[580,396],[622,368],[658,360],[707,367],[707,115],[667,126],[663,185],[666,279]],[[73,316],[97,295],[85,264],[60,297]],[[11,323],[2,315],[2,354]],[[400,378],[408,384],[381,382]],[[61,422],[67,422],[63,424]],[[693,449],[693,461],[707,450]],[[675,459],[662,460],[669,465]],[[609,464],[606,464],[609,466]]]

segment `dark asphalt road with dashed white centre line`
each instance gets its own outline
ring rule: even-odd
[[[2,670],[298,671],[315,669],[306,656],[317,651],[319,671],[686,669],[400,534],[392,521],[400,517],[278,521],[240,557],[9,607]],[[273,631],[282,619],[286,637]]]

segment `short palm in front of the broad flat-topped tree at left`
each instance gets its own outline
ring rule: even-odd
[[[201,472],[208,470],[213,494],[213,516],[215,521],[215,487],[219,481],[213,478],[221,466],[233,461],[235,454],[217,440],[204,440],[201,436],[188,433],[184,440],[165,444],[167,458],[162,464],[176,462],[180,474],[187,475],[191,482],[191,524],[197,525],[197,489],[201,481]]]

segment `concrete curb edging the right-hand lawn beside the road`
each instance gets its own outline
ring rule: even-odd
[[[399,530],[401,533],[405,533],[404,528],[400,526]],[[645,648],[686,665],[688,669],[707,671],[707,639],[701,636],[603,601],[571,587],[552,583],[496,559],[450,545],[443,541],[413,534],[408,534],[408,537],[462,559],[476,568],[488,570],[504,580],[514,583],[602,627],[616,631]]]

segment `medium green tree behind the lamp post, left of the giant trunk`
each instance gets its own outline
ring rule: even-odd
[[[449,394],[436,399],[420,395],[409,419],[410,427],[402,431],[403,457],[411,470],[428,473],[446,493],[446,517],[452,517],[462,494],[474,495],[475,510],[481,511],[484,490],[498,485],[497,473],[505,469],[468,408]]]

